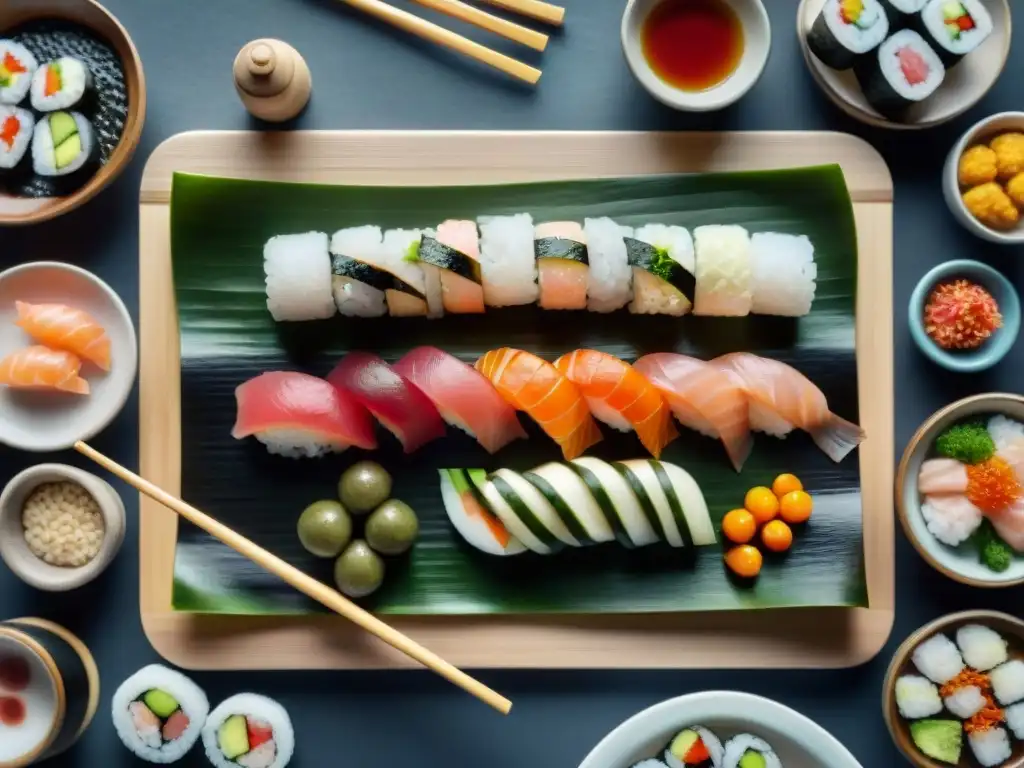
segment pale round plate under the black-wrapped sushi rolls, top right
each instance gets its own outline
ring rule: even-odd
[[[963,115],[988,93],[1010,55],[1010,4],[1007,0],[982,0],[992,16],[994,29],[991,36],[956,67],[947,70],[946,79],[939,89],[930,98],[911,108],[905,122],[896,122],[882,117],[867,103],[852,70],[839,72],[825,67],[811,53],[807,46],[807,33],[824,4],[825,0],[801,0],[797,11],[797,37],[800,38],[807,67],[821,90],[837,106],[850,117],[880,128],[931,128]]]

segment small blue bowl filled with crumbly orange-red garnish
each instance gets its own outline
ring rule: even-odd
[[[1001,360],[1021,324],[1013,284],[998,270],[969,259],[946,261],[922,278],[908,312],[918,348],[958,373],[984,371]]]

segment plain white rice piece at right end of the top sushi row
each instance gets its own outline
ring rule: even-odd
[[[758,232],[751,238],[755,314],[802,317],[814,301],[818,268],[805,234]]]

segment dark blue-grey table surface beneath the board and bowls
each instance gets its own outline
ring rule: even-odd
[[[1020,82],[1013,75],[1024,72],[1020,46],[996,87],[965,117],[931,131],[887,133],[847,119],[817,90],[796,37],[796,0],[768,0],[774,45],[757,87],[736,106],[699,117],[660,106],[630,77],[618,45],[623,0],[565,1],[568,24],[543,57],[537,57],[545,74],[536,90],[420,43],[335,0],[106,4],[127,27],[145,66],[150,108],[141,145],[128,171],[89,205],[53,223],[0,232],[4,266],[34,259],[80,264],[106,280],[137,316],[138,185],[146,158],[180,131],[257,127],[236,98],[230,66],[248,40],[272,36],[295,45],[312,70],[313,99],[297,121],[302,128],[830,129],[864,136],[885,156],[896,185],[897,457],[918,424],[944,403],[974,392],[1020,391],[1019,344],[989,373],[950,377],[918,353],[905,317],[916,280],[945,259],[982,259],[1020,285],[1017,260],[1024,249],[1000,249],[968,234],[950,217],[940,190],[942,162],[959,132],[985,115],[1022,108]],[[134,468],[137,434],[138,400],[133,397],[95,444]],[[3,450],[0,480],[51,459],[83,464],[75,456]],[[98,582],[77,593],[48,595],[26,587],[0,566],[0,618],[40,615],[62,623],[81,635],[99,664],[103,707],[79,745],[54,761],[62,766],[135,764],[118,741],[105,707],[121,680],[159,660],[139,624],[138,502],[125,486],[118,489],[129,511],[128,536],[118,560]],[[196,678],[211,701],[240,690],[279,698],[295,722],[299,746],[293,765],[300,768],[567,768],[637,711],[670,696],[719,688],[759,693],[808,715],[838,736],[865,768],[895,766],[901,758],[879,706],[882,678],[895,646],[918,626],[948,611],[988,607],[1019,613],[1022,595],[1020,589],[984,591],[954,584],[933,571],[901,531],[897,539],[895,629],[873,662],[853,670],[482,673],[486,683],[515,701],[508,718],[420,671],[199,673]],[[746,660],[754,659],[737,658],[736,666]],[[185,764],[203,765],[201,753],[195,752]]]

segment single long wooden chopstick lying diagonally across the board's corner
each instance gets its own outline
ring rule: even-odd
[[[463,690],[469,691],[481,701],[490,705],[503,715],[508,715],[512,709],[512,702],[497,691],[492,690],[483,683],[470,677],[462,670],[449,664],[433,651],[427,650],[418,642],[397,630],[384,624],[381,620],[364,610],[340,592],[325,586],[310,575],[303,573],[276,555],[267,552],[262,547],[253,544],[244,536],[237,534],[231,528],[213,519],[209,515],[186,504],[177,497],[168,494],[163,488],[154,485],[143,477],[139,477],[125,467],[122,467],[113,459],[100,454],[95,449],[79,440],[75,443],[75,450],[96,464],[101,466],[111,474],[117,475],[132,487],[151,499],[160,502],[172,512],[184,517],[193,524],[203,528],[207,534],[215,539],[219,539],[228,547],[241,555],[245,555],[257,565],[269,570],[271,573],[290,584],[292,587],[308,595],[316,602],[326,605],[336,613],[340,613],[353,624],[358,625],[367,632],[376,635],[385,643],[390,645],[411,658],[416,659],[424,667],[436,672],[443,678],[458,685]]]

